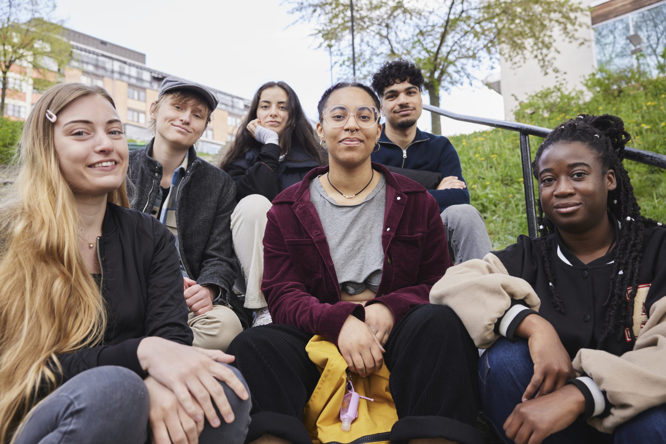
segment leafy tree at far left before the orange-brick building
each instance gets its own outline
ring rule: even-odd
[[[0,0],[0,110],[5,109],[11,67],[26,67],[24,77],[44,83],[71,60],[72,47],[62,24],[51,19],[53,11],[53,0]]]

